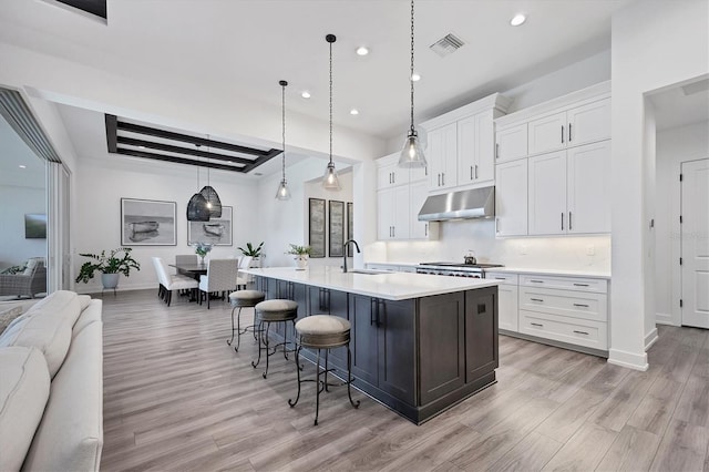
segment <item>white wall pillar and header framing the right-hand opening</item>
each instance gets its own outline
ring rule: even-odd
[[[709,3],[644,0],[613,16],[613,293],[608,361],[647,369],[648,162],[644,94],[709,71]],[[654,155],[653,155],[654,157]]]

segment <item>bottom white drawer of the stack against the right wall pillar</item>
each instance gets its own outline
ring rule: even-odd
[[[520,310],[520,332],[588,348],[608,349],[608,325]]]

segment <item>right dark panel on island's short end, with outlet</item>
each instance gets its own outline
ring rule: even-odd
[[[497,287],[465,293],[465,382],[499,366]]]

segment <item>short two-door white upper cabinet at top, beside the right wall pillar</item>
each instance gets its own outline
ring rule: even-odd
[[[533,120],[528,153],[541,154],[610,137],[610,99]]]

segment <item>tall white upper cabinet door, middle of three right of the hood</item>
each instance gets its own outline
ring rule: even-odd
[[[531,235],[565,234],[566,151],[530,157]]]

